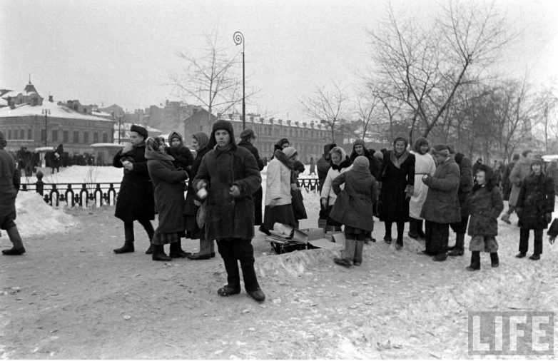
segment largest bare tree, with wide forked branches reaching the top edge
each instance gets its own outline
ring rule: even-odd
[[[450,1],[445,13],[422,28],[393,11],[380,29],[369,31],[375,68],[369,83],[385,100],[402,103],[410,128],[428,136],[445,120],[458,89],[493,63],[509,41],[504,17],[489,6]],[[418,122],[420,121],[420,123]]]

